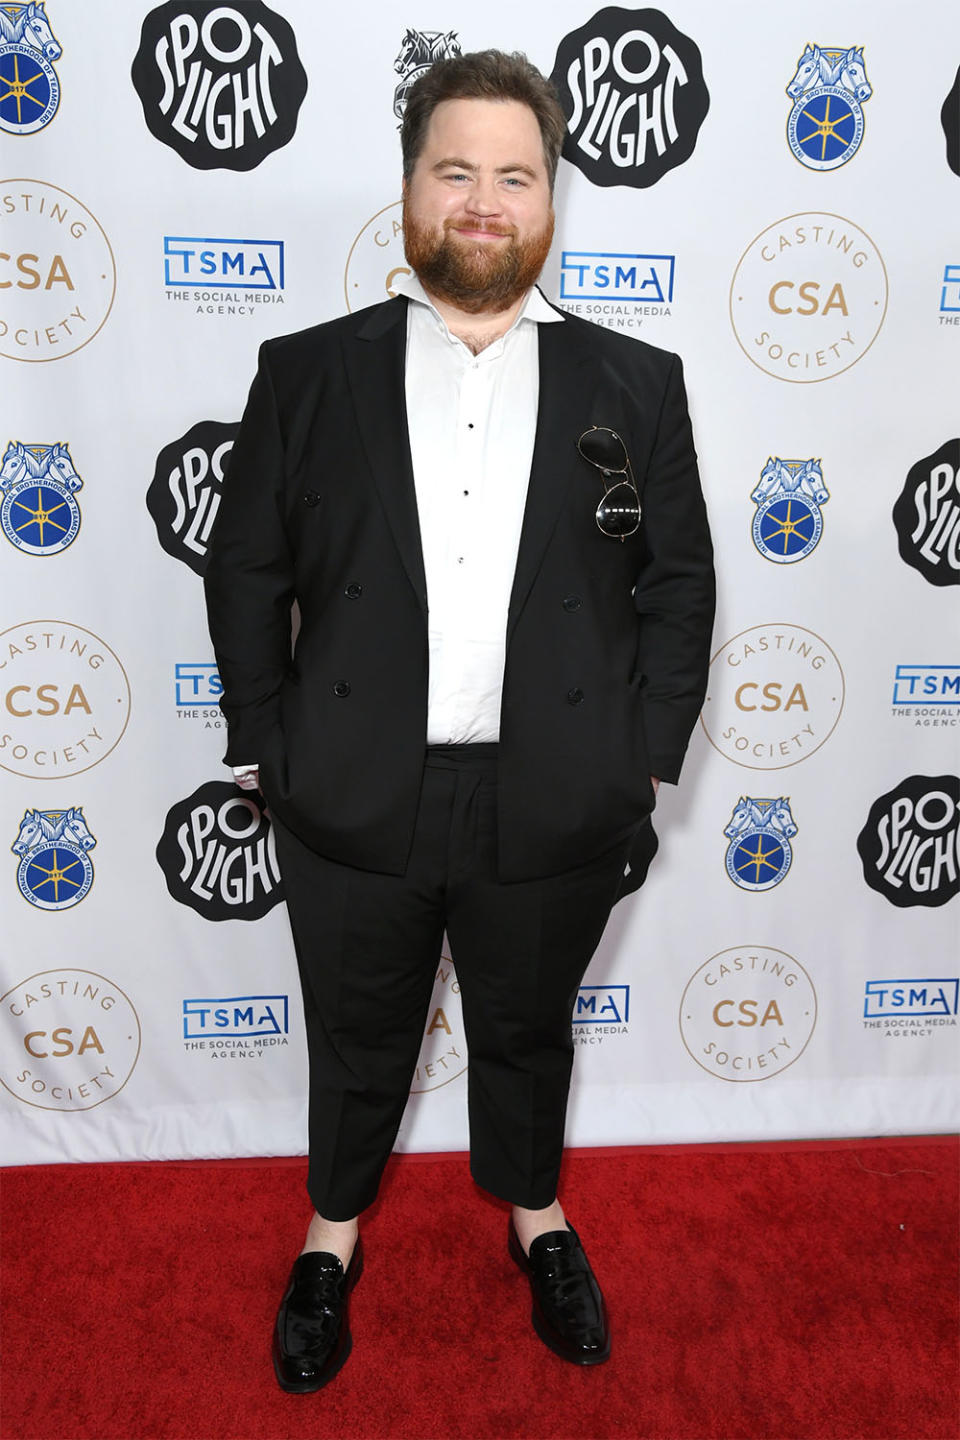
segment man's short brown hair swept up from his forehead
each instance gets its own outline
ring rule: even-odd
[[[410,179],[420,157],[430,115],[445,99],[517,99],[528,105],[540,125],[553,192],[567,120],[550,81],[520,50],[512,55],[504,50],[475,50],[436,60],[410,86],[400,127],[404,180]]]

